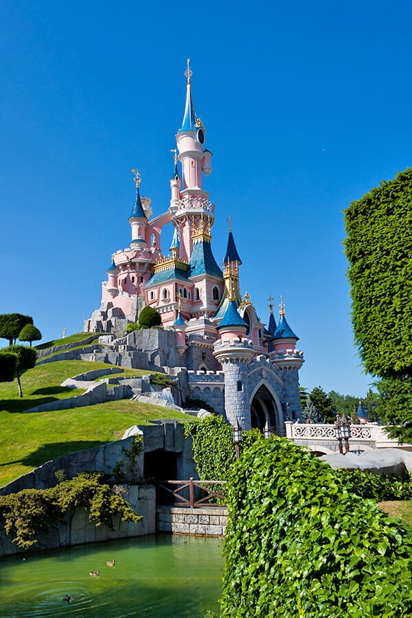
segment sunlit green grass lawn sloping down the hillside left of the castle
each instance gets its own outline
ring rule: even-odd
[[[21,378],[23,399],[19,399],[16,380],[0,383],[0,486],[58,455],[119,439],[131,425],[165,417],[187,420],[183,413],[130,400],[22,414],[24,410],[41,403],[82,392],[61,387],[60,384],[66,378],[84,371],[106,367],[110,365],[87,361],[38,365]],[[126,370],[125,374],[129,371],[137,374],[135,370]]]

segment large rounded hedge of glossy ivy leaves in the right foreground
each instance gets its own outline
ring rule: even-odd
[[[412,615],[412,530],[281,438],[231,466],[224,554],[224,617]]]

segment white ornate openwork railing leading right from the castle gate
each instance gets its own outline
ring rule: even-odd
[[[294,441],[307,440],[313,441],[316,444],[316,442],[320,442],[321,440],[330,441],[331,439],[336,439],[333,425],[292,423],[287,421],[285,427],[286,437]],[[385,431],[385,427],[376,424],[351,425],[350,432],[351,443],[369,442],[370,446],[376,446],[376,448],[382,446],[399,446],[398,439],[389,437]]]

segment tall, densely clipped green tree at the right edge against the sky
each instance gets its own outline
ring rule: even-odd
[[[407,439],[402,426],[412,422],[411,204],[408,168],[345,211],[355,341],[365,370],[385,378],[378,414],[401,439]]]

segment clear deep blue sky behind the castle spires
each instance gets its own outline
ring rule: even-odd
[[[0,312],[47,341],[100,306],[131,168],[168,208],[190,56],[216,258],[231,214],[242,293],[264,321],[285,297],[301,385],[364,396],[342,211],[411,164],[411,21],[406,0],[2,0]]]

